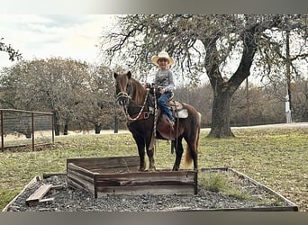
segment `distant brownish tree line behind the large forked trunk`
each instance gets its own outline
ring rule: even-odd
[[[279,83],[279,84],[278,84]],[[283,82],[275,85],[241,85],[231,99],[231,126],[248,126],[285,122],[285,94]],[[308,79],[292,83],[293,121],[308,121]],[[195,88],[178,87],[175,99],[191,103],[202,114],[202,126],[211,127],[213,91],[209,84]]]

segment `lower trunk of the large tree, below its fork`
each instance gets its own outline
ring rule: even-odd
[[[231,96],[232,95],[229,92],[214,94],[212,125],[208,137],[210,138],[234,137],[234,134],[232,133],[230,126]]]

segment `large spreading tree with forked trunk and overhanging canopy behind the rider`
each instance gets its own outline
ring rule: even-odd
[[[102,37],[102,49],[109,59],[121,60],[141,75],[149,71],[150,57],[161,49],[176,59],[175,69],[193,83],[206,73],[213,88],[209,136],[232,137],[231,97],[250,75],[256,54],[264,60],[261,50],[276,47],[267,43],[270,31],[276,30],[307,35],[306,15],[125,15],[119,18],[117,30]],[[105,41],[109,42],[106,49]],[[267,68],[271,66],[268,61]]]

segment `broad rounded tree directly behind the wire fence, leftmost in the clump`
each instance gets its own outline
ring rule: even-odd
[[[62,58],[20,61],[1,76],[5,92],[1,103],[15,109],[53,112],[56,135],[61,125],[66,134],[85,93],[87,67],[86,63]]]

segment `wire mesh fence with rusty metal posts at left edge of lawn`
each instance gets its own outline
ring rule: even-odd
[[[0,109],[1,150],[54,144],[51,112]]]

